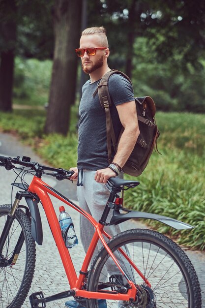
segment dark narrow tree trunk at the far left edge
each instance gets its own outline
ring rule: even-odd
[[[16,4],[9,1],[12,14],[0,20],[0,36],[3,48],[0,52],[0,110],[12,110],[12,88],[16,45]]]

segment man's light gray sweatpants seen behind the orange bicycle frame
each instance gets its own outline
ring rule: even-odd
[[[91,170],[83,171],[83,181],[82,181],[83,186],[77,187],[77,197],[79,201],[79,206],[86,212],[88,212],[98,222],[102,216],[105,205],[110,196],[111,187],[108,184],[97,183],[94,180],[95,172],[96,171],[91,171]],[[81,174],[79,176],[81,177]],[[81,180],[82,179],[80,179],[80,182]],[[112,215],[113,211],[111,210],[107,217],[106,220],[107,222],[110,221]],[[111,225],[104,227],[104,230],[111,237],[122,232],[123,231],[122,229],[123,229],[122,224],[120,225],[118,224],[116,226]],[[88,247],[93,237],[93,234],[94,234],[94,227],[92,226],[92,224],[88,221],[86,217],[80,215],[80,236],[85,252],[88,251]],[[93,258],[95,257],[96,253],[101,248],[101,246],[102,242],[99,240],[98,245],[94,251]],[[128,252],[128,249],[126,249],[126,252]],[[128,262],[121,255],[119,255],[118,252],[116,252],[115,255],[117,259],[120,261],[120,263],[122,262],[124,270],[126,269],[125,272],[129,274],[130,277],[132,277],[132,272],[130,270],[130,265],[128,264]],[[106,268],[103,268],[101,273],[100,277],[101,281],[106,281],[108,274],[109,276],[113,274],[120,274],[112,258],[109,258],[106,261]]]

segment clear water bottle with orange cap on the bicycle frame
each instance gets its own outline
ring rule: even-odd
[[[65,212],[64,206],[59,207],[60,215],[59,215],[59,225],[62,231],[62,237],[65,242],[65,246],[67,248],[72,248],[78,244],[78,239],[75,234],[73,221],[70,215]]]

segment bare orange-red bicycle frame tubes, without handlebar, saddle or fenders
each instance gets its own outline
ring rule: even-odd
[[[39,196],[42,204],[43,204],[43,208],[44,208],[45,214],[47,216],[48,223],[50,225],[54,240],[55,240],[56,245],[58,247],[59,254],[60,254],[64,269],[65,269],[65,273],[67,275],[67,278],[68,278],[68,281],[69,281],[69,284],[70,284],[70,288],[75,291],[75,296],[80,296],[80,297],[85,297],[85,298],[111,299],[111,300],[112,299],[113,300],[119,300],[120,299],[120,300],[124,300],[124,301],[128,301],[130,298],[135,298],[136,291],[137,291],[136,286],[134,285],[134,283],[132,281],[129,280],[129,278],[123,272],[123,270],[120,267],[117,259],[114,256],[114,254],[112,253],[112,251],[108,247],[106,241],[103,239],[102,235],[105,235],[108,239],[111,238],[103,230],[104,226],[100,223],[97,223],[96,220],[92,216],[90,216],[86,211],[81,209],[78,205],[74,204],[72,201],[70,201],[69,199],[67,199],[63,195],[61,195],[58,191],[56,191],[54,188],[52,188],[51,186],[44,183],[40,178],[38,178],[36,176],[33,177],[33,180],[29,185],[28,191],[37,194]],[[54,206],[53,206],[52,201],[51,201],[48,194],[51,194],[52,196],[56,197],[57,199],[59,199],[60,201],[62,201],[65,204],[67,204],[71,208],[75,209],[81,215],[85,216],[95,228],[95,233],[94,233],[94,236],[93,236],[92,241],[90,243],[90,246],[88,248],[88,252],[86,254],[86,257],[84,259],[79,277],[77,277],[77,275],[76,275],[75,268],[74,268],[70,253],[69,253],[68,249],[66,248],[66,246],[64,245],[64,241],[63,241],[60,226],[59,226],[58,217],[56,215],[56,212],[54,210]],[[86,277],[87,271],[88,271],[88,265],[90,263],[91,257],[93,255],[93,252],[95,250],[95,247],[96,247],[99,239],[102,241],[106,250],[108,251],[108,253],[113,258],[113,260],[116,263],[119,271],[127,278],[128,282],[131,286],[131,288],[128,290],[127,294],[122,295],[122,294],[112,294],[112,293],[109,294],[109,293],[101,293],[101,292],[89,292],[89,291],[81,289],[83,282],[84,282],[84,279]],[[123,251],[121,251],[121,252],[127,258],[127,260],[129,260],[129,257]],[[130,262],[131,262],[131,260],[130,260]],[[136,266],[135,266],[135,269],[137,269]],[[143,274],[139,270],[138,270],[138,273],[140,274],[141,277],[144,277]],[[147,285],[150,286],[150,284],[148,283],[148,281],[146,280],[145,277],[144,277],[144,280],[146,281]]]

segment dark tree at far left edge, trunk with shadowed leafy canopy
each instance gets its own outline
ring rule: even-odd
[[[12,87],[16,55],[51,58],[54,0],[0,0],[0,110],[12,110]]]

